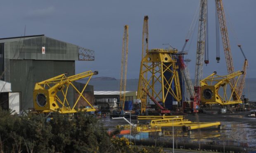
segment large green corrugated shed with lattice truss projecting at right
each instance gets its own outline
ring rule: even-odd
[[[45,35],[0,39],[0,79],[21,93],[20,109],[33,108],[36,82],[65,72],[74,75],[76,60],[94,60],[94,51]],[[74,90],[68,95],[69,101],[76,97]]]

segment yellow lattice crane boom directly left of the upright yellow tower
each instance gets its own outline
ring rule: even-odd
[[[141,56],[141,59],[143,59],[145,56],[147,56],[147,52],[148,52],[148,42],[149,42],[148,19],[149,19],[148,16],[144,16],[143,29],[142,29],[142,56]],[[141,60],[140,72],[145,71],[145,67],[143,66],[143,64],[145,64],[145,63],[143,63],[143,60]],[[145,112],[146,111],[147,95],[145,92],[142,92],[142,89],[146,88],[147,85],[144,84],[144,82],[142,82],[142,78],[147,79],[147,73],[140,73],[138,89],[137,89],[137,99],[140,99],[141,106],[142,106],[141,112]]]

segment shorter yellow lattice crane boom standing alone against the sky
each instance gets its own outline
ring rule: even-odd
[[[127,61],[128,61],[128,38],[129,38],[129,26],[124,26],[123,32],[123,45],[122,45],[122,57],[121,57],[121,74],[120,74],[120,105],[124,110],[124,104],[126,100],[126,76],[127,76]]]

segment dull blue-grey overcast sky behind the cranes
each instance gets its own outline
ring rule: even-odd
[[[235,71],[244,58],[249,62],[249,77],[256,77],[256,0],[223,0]],[[76,73],[99,71],[99,76],[119,78],[123,26],[129,25],[128,79],[139,76],[142,26],[149,16],[149,49],[166,48],[170,43],[181,50],[199,0],[5,0],[0,5],[0,37],[45,34],[65,42],[95,50],[95,61],[76,62]],[[194,78],[197,44],[195,27],[187,45],[191,77]],[[237,35],[237,36],[236,36]],[[238,41],[235,39],[238,38]],[[209,0],[209,59],[204,76],[217,71],[227,74],[223,46],[216,63],[215,4]],[[220,39],[221,40],[221,39]],[[222,42],[221,42],[222,44]],[[189,47],[190,46],[190,47]]]

